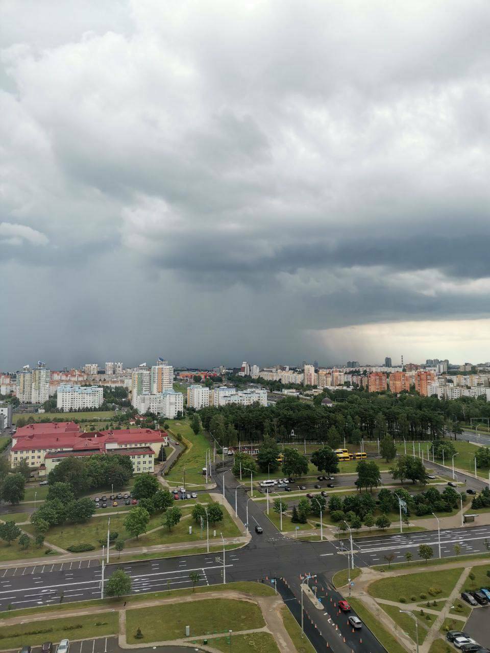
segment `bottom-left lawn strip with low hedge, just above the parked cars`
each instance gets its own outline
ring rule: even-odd
[[[100,637],[100,635],[116,635],[119,632],[118,617],[119,614],[115,612],[99,612],[41,622],[29,621],[15,626],[2,626],[0,647],[7,650],[20,648],[27,642],[31,646],[39,646],[46,641],[59,642],[60,639],[65,638],[84,639]],[[80,627],[73,628],[73,626]],[[42,633],[36,633],[37,630],[42,630]]]

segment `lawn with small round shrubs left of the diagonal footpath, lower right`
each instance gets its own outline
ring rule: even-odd
[[[461,576],[461,567],[456,569],[444,569],[444,573],[439,571],[425,571],[420,573],[404,574],[393,576],[391,578],[374,581],[368,586],[368,594],[378,599],[387,599],[389,601],[399,601],[400,597],[405,597],[407,601],[410,596],[419,597],[420,594],[429,594],[429,588],[438,587],[442,592],[438,596],[449,596],[457,580]]]

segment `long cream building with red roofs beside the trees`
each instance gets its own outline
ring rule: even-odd
[[[73,424],[73,422],[59,423]],[[29,424],[29,426],[48,428],[46,431],[35,428],[31,432],[25,432],[27,426],[24,426],[20,438],[17,432],[12,438],[10,464],[15,467],[22,460],[27,460],[30,467],[40,468],[40,475],[49,473],[63,457],[95,453],[126,454],[127,451],[132,452],[128,455],[131,455],[133,460],[135,473],[153,471],[154,457],[160,453],[161,447],[166,447],[168,443],[165,432],[151,428],[85,433],[79,430],[53,429],[52,424]],[[151,456],[149,450],[152,452]],[[136,451],[139,453],[135,453]]]

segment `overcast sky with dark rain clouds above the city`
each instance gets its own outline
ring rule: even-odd
[[[488,0],[0,24],[1,369],[490,360]]]

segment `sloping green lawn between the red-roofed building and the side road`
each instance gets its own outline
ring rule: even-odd
[[[197,436],[195,435],[189,426],[189,420],[169,419],[167,422],[169,424],[169,434],[173,435],[174,438],[177,434],[180,434],[188,441],[189,445],[187,451],[184,451],[180,456],[169,475],[165,476],[165,479],[171,484],[182,485],[185,467],[186,483],[204,485],[203,467],[206,464],[206,449],[210,448],[210,443],[203,432],[198,433]]]

